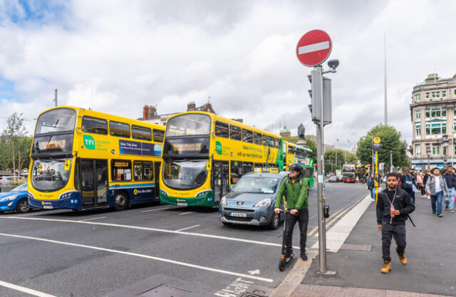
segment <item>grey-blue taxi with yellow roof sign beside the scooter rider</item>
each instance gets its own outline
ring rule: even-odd
[[[277,229],[284,219],[274,213],[276,194],[288,172],[244,174],[222,197],[219,219],[224,225],[243,224]]]

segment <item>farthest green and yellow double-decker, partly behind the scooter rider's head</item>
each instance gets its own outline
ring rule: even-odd
[[[293,163],[304,167],[304,177],[309,182],[309,188],[314,187],[314,158],[312,150],[291,142],[284,141],[284,170],[288,171]]]

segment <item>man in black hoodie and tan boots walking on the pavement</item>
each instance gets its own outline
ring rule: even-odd
[[[378,195],[377,201],[377,229],[382,231],[383,268],[381,273],[391,270],[390,246],[394,236],[396,252],[400,263],[407,264],[405,258],[405,220],[408,214],[415,210],[415,204],[403,189],[398,189],[398,177],[389,173],[386,177],[387,187]]]

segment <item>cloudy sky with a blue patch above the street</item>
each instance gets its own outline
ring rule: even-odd
[[[413,86],[456,73],[455,11],[451,0],[0,0],[0,130],[17,112],[31,132],[58,88],[59,105],[129,118],[210,97],[219,115],[315,134],[296,43],[319,28],[340,61],[325,142],[346,149],[383,122],[386,35],[388,124],[410,144]]]

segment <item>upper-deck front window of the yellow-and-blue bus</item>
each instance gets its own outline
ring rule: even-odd
[[[76,111],[69,108],[57,108],[43,113],[36,123],[35,134],[74,130]]]

